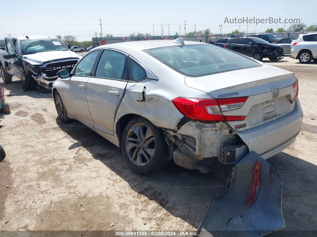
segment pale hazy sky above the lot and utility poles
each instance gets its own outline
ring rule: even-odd
[[[0,39],[7,34],[56,35],[72,34],[78,40],[91,40],[94,32],[103,35],[128,36],[131,33],[161,35],[184,34],[210,28],[212,33],[230,33],[238,29],[247,31],[246,24],[224,23],[228,18],[299,18],[301,22],[317,24],[316,0],[288,1],[83,1],[83,0],[1,0]],[[267,28],[284,27],[284,24],[250,24],[248,32],[264,32]],[[286,29],[289,24],[286,25]]]

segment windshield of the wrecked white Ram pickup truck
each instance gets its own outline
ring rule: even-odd
[[[68,51],[68,48],[59,39],[21,40],[20,43],[23,54]]]

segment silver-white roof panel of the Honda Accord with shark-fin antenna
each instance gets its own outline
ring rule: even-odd
[[[184,41],[185,45],[193,45],[193,44],[206,44],[203,42],[197,42],[197,41]],[[152,48],[160,48],[160,47],[168,47],[168,46],[181,46],[181,44],[173,43],[172,40],[147,40],[147,41],[129,41],[129,42],[121,42],[121,43],[114,43],[114,44],[107,44],[107,45],[101,45],[96,47],[98,48],[112,48],[117,50],[125,51],[127,49],[134,49],[138,51],[143,51],[146,49],[152,49]]]

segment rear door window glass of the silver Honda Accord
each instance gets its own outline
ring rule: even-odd
[[[104,50],[95,77],[127,80],[127,56],[113,50]]]

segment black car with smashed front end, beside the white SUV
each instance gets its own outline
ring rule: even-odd
[[[227,41],[224,47],[259,61],[262,61],[263,58],[279,60],[283,56],[281,46],[256,37],[232,38]]]

